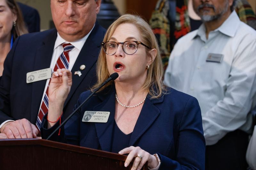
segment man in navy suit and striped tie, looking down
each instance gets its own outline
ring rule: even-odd
[[[0,80],[1,133],[8,138],[36,137],[35,124],[50,79],[26,83],[26,75],[56,67],[65,52],[64,43],[71,43],[73,47],[68,52],[73,85],[64,104],[64,118],[72,112],[80,93],[95,83],[99,46],[105,34],[105,29],[96,21],[100,3],[101,0],[51,0],[56,29],[26,34],[15,41]]]

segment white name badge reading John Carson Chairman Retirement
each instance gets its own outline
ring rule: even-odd
[[[27,83],[33,83],[35,81],[45,80],[52,77],[52,69],[42,69],[27,73]]]

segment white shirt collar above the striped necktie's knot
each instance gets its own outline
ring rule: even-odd
[[[95,26],[95,24],[94,24],[94,26]],[[69,42],[69,41],[64,40],[64,39],[60,36],[59,32],[57,32],[57,39],[56,39],[55,44],[54,44],[54,49],[56,49],[57,47],[59,47],[62,43],[66,42],[66,43],[72,44],[75,48],[77,48],[77,49],[79,49],[79,51],[81,51],[81,49],[82,49],[83,46],[84,46],[85,41],[87,40],[87,38],[89,37],[90,33],[92,32],[94,26],[92,27],[91,31],[90,31],[88,34],[86,34],[86,35],[85,35],[83,38],[81,38],[80,40],[77,40],[77,41],[74,41],[74,42]]]

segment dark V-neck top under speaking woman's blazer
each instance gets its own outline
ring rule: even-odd
[[[132,133],[129,133],[127,135],[124,134],[124,132],[122,132],[118,128],[116,121],[114,121],[111,152],[118,153],[122,149],[129,147],[131,136],[132,136]]]

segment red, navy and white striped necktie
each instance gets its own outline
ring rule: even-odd
[[[69,55],[68,52],[71,51],[74,46],[72,46],[70,43],[63,43],[62,44],[63,47],[63,52],[61,53],[61,55],[59,56],[53,71],[57,71],[57,69],[68,69],[68,65],[69,65]],[[36,119],[36,128],[38,129],[38,131],[40,132],[40,127],[41,127],[41,122],[43,120],[44,115],[48,112],[48,89],[49,89],[49,84],[50,84],[51,80],[48,83],[46,92],[44,94],[44,100],[41,104],[37,119]]]

